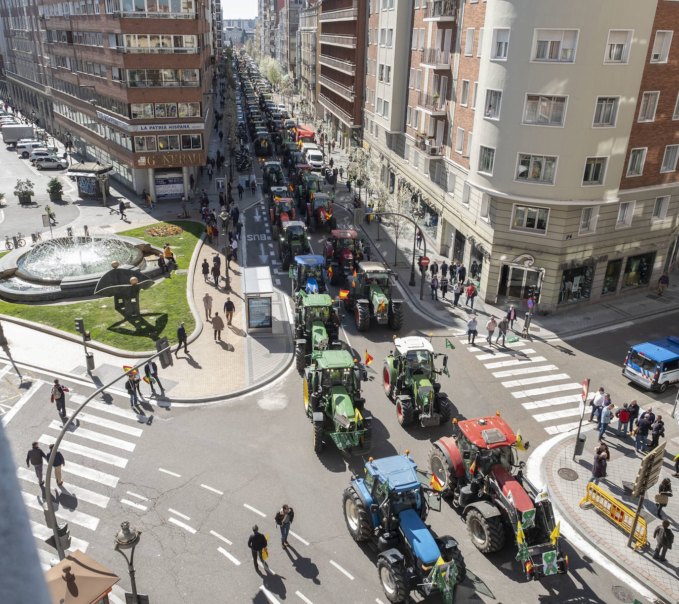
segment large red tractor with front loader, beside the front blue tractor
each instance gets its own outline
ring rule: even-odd
[[[507,535],[517,544],[526,578],[568,572],[549,493],[524,476],[517,437],[499,414],[457,422],[454,436],[435,442],[429,467],[444,496],[462,511],[467,533],[483,554],[497,552]],[[525,449],[528,446],[520,445]],[[512,474],[517,470],[515,474]]]

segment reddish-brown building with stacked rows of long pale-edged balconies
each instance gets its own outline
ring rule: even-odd
[[[318,111],[343,148],[359,143],[367,0],[324,0],[318,12]]]

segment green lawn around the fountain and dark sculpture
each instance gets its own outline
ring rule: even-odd
[[[138,237],[155,247],[162,247],[164,243],[169,243],[177,258],[178,268],[189,268],[191,255],[203,232],[203,224],[183,220],[169,221],[169,224],[181,226],[184,229],[183,234],[172,237],[151,237],[144,232],[148,227],[123,231],[119,234]],[[183,257],[180,257],[182,255]],[[181,321],[184,321],[184,327],[189,334],[196,327],[196,321],[191,315],[186,300],[186,282],[187,275],[172,272],[171,279],[164,279],[158,285],[141,290],[139,296],[142,321],[136,326],[124,321],[122,315],[113,308],[113,298],[98,298],[86,302],[50,306],[12,304],[12,302],[0,300],[0,313],[50,325],[72,334],[77,334],[73,319],[82,317],[85,329],[90,330],[92,340],[124,350],[147,351],[155,348],[155,338],[151,337],[153,332],[157,338],[167,336],[170,342],[177,342],[177,327]]]

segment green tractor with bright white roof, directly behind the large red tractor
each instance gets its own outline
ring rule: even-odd
[[[407,426],[416,416],[423,427],[448,423],[453,406],[436,381],[437,375],[447,373],[448,357],[443,355],[443,370],[437,371],[434,359],[439,355],[420,336],[394,338],[394,348],[384,359],[382,385],[396,403],[399,424]]]

